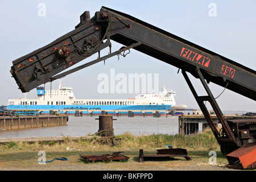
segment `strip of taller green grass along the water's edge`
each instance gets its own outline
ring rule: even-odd
[[[187,148],[193,150],[219,150],[219,145],[216,138],[210,129],[204,130],[200,134],[192,135],[167,135],[167,134],[154,134],[154,135],[141,135],[135,136],[130,133],[125,133],[116,136],[121,138],[121,144],[118,146],[108,146],[106,144],[97,143],[97,139],[90,140],[73,140],[72,137],[63,136],[64,142],[9,142],[0,145],[0,151],[22,151],[22,150],[44,150],[44,151],[64,151],[77,150],[77,151],[126,151],[138,150],[152,150],[158,148],[167,148],[168,144],[173,148]]]

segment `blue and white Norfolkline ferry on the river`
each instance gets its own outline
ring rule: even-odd
[[[142,113],[142,111],[158,110],[167,111],[173,108],[186,109],[186,105],[176,105],[174,96],[176,92],[166,89],[165,86],[159,94],[137,94],[135,98],[127,99],[77,99],[71,87],[63,87],[60,81],[59,89],[45,90],[43,86],[36,88],[37,98],[18,98],[8,100],[8,109],[18,110],[42,110],[43,113],[49,113],[49,110],[59,110],[61,113],[75,113],[75,110],[80,110],[83,113],[88,113],[92,110],[93,113],[101,113],[102,110],[113,112],[118,110],[122,113],[127,113],[128,110],[134,113]],[[88,111],[90,110],[90,111]]]

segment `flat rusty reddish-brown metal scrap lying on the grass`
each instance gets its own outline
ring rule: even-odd
[[[111,161],[121,161],[121,160],[127,160],[129,157],[122,155],[121,152],[113,152],[113,154],[104,154],[104,155],[80,155],[80,158],[84,159],[85,161],[89,162],[96,162],[96,161],[105,161],[105,162],[111,162]]]

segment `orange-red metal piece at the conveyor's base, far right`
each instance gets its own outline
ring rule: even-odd
[[[248,143],[243,147],[226,155],[228,168],[254,169],[256,168],[256,142]]]

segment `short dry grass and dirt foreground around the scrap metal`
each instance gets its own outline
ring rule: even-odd
[[[236,171],[226,168],[225,156],[217,151],[216,164],[209,164],[209,151],[188,151],[192,160],[185,158],[147,158],[139,162],[139,150],[125,151],[129,156],[127,162],[85,162],[80,155],[95,155],[89,151],[47,152],[46,160],[65,157],[68,160],[53,160],[50,163],[39,164],[39,150],[0,152],[1,171]],[[155,151],[144,151],[144,154],[154,154]],[[100,154],[112,154],[112,151],[101,151]],[[99,155],[99,154],[97,154]],[[239,171],[239,170],[238,170]]]

